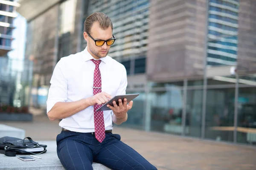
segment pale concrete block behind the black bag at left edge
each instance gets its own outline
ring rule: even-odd
[[[25,130],[0,124],[0,138],[3,136],[12,136],[15,138],[24,139]]]

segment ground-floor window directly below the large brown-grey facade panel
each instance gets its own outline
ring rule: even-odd
[[[182,133],[183,91],[173,86],[168,91],[152,93],[151,130]]]

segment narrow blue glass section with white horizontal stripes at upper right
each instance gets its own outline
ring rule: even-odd
[[[236,65],[239,1],[209,0],[207,65]]]

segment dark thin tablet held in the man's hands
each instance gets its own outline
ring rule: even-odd
[[[100,108],[98,108],[96,111],[111,111],[110,108],[107,107],[107,105],[113,106],[113,101],[116,101],[116,105],[119,105],[118,99],[122,99],[122,102],[124,99],[127,99],[127,104],[131,102],[135,97],[139,96],[140,94],[124,94],[124,95],[118,95],[114,96],[111,100],[106,102],[104,105],[102,105]]]

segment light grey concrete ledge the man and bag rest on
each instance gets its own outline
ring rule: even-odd
[[[56,141],[37,141],[40,144],[47,144],[47,153],[40,154],[42,159],[35,161],[22,161],[16,157],[9,157],[0,154],[0,169],[2,170],[64,170],[56,152]],[[93,170],[110,170],[102,164],[93,162]]]

